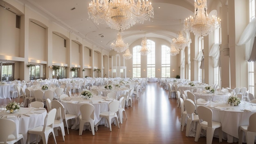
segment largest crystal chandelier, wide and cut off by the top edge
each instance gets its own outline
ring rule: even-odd
[[[111,29],[123,31],[153,18],[154,9],[148,0],[92,0],[88,14],[96,24],[106,22]]]

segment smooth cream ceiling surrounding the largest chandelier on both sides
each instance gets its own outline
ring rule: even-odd
[[[111,51],[110,44],[115,41],[117,31],[107,24],[95,24],[88,17],[87,7],[91,0],[17,0],[38,11],[56,24],[70,30],[79,37]],[[144,24],[135,24],[121,33],[124,42],[131,44],[138,39],[162,38],[171,42],[178,31],[183,30],[185,18],[193,15],[194,0],[149,0],[154,8],[154,18]],[[210,0],[208,0],[210,2]],[[209,4],[208,2],[208,4]],[[0,0],[1,4],[1,0]],[[1,4],[2,5],[2,4]],[[74,10],[71,10],[75,8]],[[181,24],[180,24],[181,21]],[[104,35],[102,38],[101,35]]]

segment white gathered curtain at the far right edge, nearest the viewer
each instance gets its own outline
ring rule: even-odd
[[[252,47],[254,44],[254,37],[256,36],[256,18],[246,26],[240,39],[236,45],[245,44],[245,59],[248,61],[252,53]]]

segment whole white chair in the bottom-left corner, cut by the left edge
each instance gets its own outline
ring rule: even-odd
[[[16,123],[10,119],[0,119],[0,143],[14,144],[18,141],[24,144],[23,135],[16,129]]]

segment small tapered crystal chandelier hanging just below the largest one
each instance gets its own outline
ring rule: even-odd
[[[117,40],[115,43],[111,43],[112,49],[114,49],[117,53],[124,52],[128,48],[128,43],[125,44],[124,40],[122,39],[121,33],[117,33]]]

